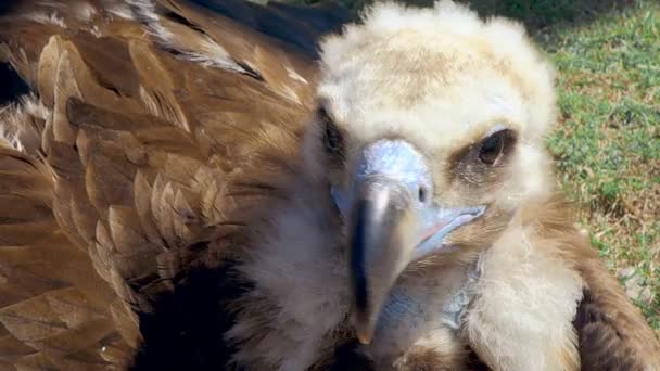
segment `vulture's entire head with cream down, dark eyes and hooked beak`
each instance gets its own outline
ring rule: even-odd
[[[518,24],[439,2],[372,9],[323,40],[321,74],[304,156],[343,220],[369,343],[402,274],[472,261],[551,189],[553,69]]]

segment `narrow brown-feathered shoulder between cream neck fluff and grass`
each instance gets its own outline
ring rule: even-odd
[[[554,216],[544,233],[556,235],[563,246],[560,253],[574,261],[583,282],[573,319],[581,369],[660,370],[660,342],[642,311],[605,267],[588,236],[566,227],[572,220],[566,214],[571,207],[550,205],[557,212],[546,212]]]

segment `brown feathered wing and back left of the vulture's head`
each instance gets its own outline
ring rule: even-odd
[[[221,299],[238,290],[224,261],[262,205],[285,196],[314,39],[345,14],[3,8],[0,59],[30,92],[0,113],[0,368],[123,369],[136,353],[137,366],[221,368]],[[207,291],[177,289],[188,281]]]

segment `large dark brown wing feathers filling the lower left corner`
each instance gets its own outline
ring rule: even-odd
[[[115,295],[53,218],[53,174],[0,148],[0,364],[3,369],[100,368],[126,359]],[[105,351],[100,351],[105,347]]]

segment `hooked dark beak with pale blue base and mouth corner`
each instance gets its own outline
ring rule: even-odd
[[[369,344],[390,290],[410,263],[441,252],[456,228],[485,206],[442,207],[423,156],[403,140],[367,146],[352,189],[333,190],[348,226],[348,261],[358,340]],[[441,200],[442,201],[442,200]]]

